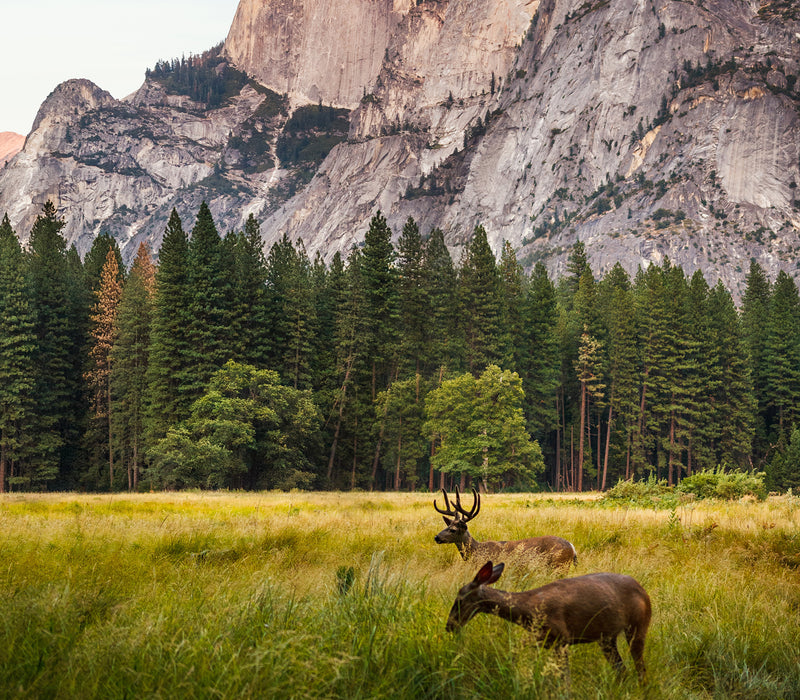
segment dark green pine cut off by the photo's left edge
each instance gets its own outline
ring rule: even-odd
[[[25,261],[8,215],[0,224],[0,493],[30,446],[35,338]]]

